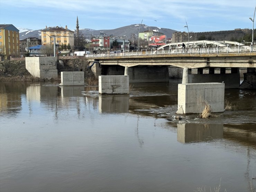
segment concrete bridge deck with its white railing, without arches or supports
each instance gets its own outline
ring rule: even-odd
[[[89,62],[120,66],[256,67],[256,45],[200,48],[145,49],[86,55]]]

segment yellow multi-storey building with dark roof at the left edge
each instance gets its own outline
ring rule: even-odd
[[[0,56],[20,57],[19,30],[11,24],[0,24]]]

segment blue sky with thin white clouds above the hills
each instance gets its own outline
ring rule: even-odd
[[[141,21],[186,32],[252,29],[255,6],[256,0],[0,0],[0,24],[74,30],[78,17],[79,29],[116,29]]]

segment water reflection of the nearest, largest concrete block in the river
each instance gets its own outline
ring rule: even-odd
[[[177,124],[177,140],[181,143],[223,138],[223,124]]]

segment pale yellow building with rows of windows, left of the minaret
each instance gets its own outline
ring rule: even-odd
[[[70,44],[72,49],[74,48],[74,31],[71,31],[70,29],[63,27],[48,27],[46,26],[45,29],[41,30],[41,39],[42,39],[42,45],[51,44],[54,43],[54,36],[55,36],[55,43],[56,45],[63,44]]]

